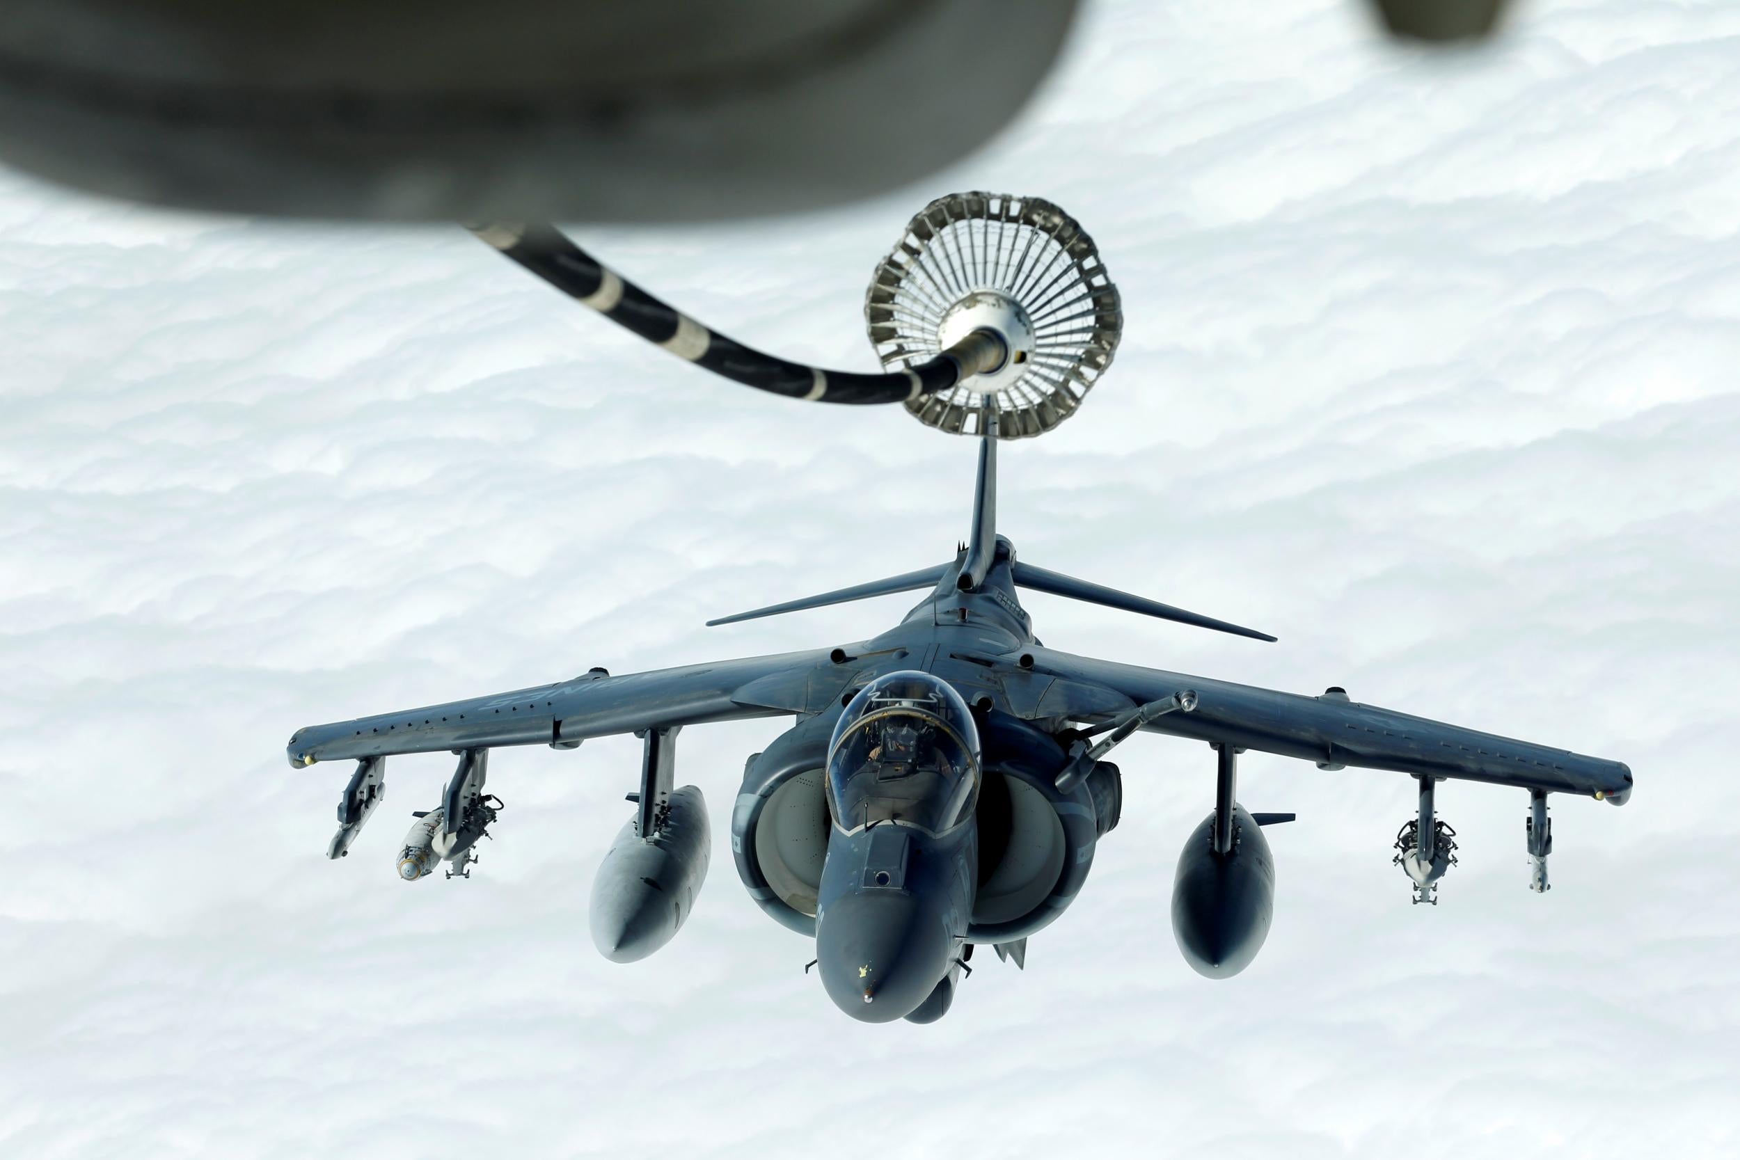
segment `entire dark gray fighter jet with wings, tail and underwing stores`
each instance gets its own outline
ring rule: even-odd
[[[941,1017],[976,944],[1025,965],[1027,939],[1082,889],[1094,849],[1119,821],[1122,781],[1107,753],[1138,729],[1208,743],[1215,809],[1190,833],[1173,885],[1173,930],[1185,960],[1227,977],[1268,934],[1274,859],[1263,826],[1237,800],[1246,750],[1319,769],[1389,769],[1420,783],[1418,817],[1395,861],[1415,901],[1436,901],[1455,864],[1455,831],[1434,812],[1442,779],[1516,786],[1529,795],[1531,889],[1547,889],[1547,795],[1630,797],[1618,763],[1474,732],[1352,701],[1272,692],[1047,649],[1021,609],[1021,588],[1181,624],[1265,633],[1053,572],[1016,557],[995,530],[997,431],[987,416],[971,539],[931,569],[729,616],[814,609],[929,590],[889,631],[865,642],[574,680],[419,710],[299,729],[292,767],[355,760],[329,857],[350,850],[379,809],[385,762],[398,753],[459,757],[442,802],[416,814],[398,873],[468,875],[473,843],[498,817],[484,791],[489,750],[588,737],[644,739],[633,817],[599,871],[592,936],[612,960],[672,939],[706,875],[710,833],[696,786],[673,788],[680,729],[792,717],[748,758],[731,809],[731,850],[750,897],[816,943],[828,997],[868,1023]]]

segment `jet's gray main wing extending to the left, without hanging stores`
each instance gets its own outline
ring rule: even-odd
[[[515,689],[470,701],[308,725],[291,736],[292,767],[393,753],[550,744],[571,750],[586,737],[814,711],[851,678],[830,650],[783,652],[712,664]]]

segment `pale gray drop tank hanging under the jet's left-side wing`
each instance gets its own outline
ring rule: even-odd
[[[713,852],[699,786],[672,791],[642,838],[630,819],[592,882],[592,943],[614,963],[646,958],[675,937],[694,910]]]

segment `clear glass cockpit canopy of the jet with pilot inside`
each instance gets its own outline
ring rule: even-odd
[[[966,701],[919,671],[858,690],[828,743],[828,810],[842,830],[900,821],[943,833],[973,816],[980,741]]]

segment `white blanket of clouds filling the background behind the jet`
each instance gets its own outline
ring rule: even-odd
[[[499,750],[468,882],[393,875],[447,757],[395,758],[351,857],[306,723],[825,647],[887,598],[703,621],[938,563],[973,447],[724,384],[456,228],[186,217],[0,170],[0,1157],[371,1160],[1740,1150],[1740,7],[1538,0],[1482,54],[1338,0],[1091,0],[1011,129],[771,223],[585,228],[743,341],[872,369],[861,296],[952,190],[1046,197],[1122,290],[1082,412],[1002,456],[1025,560],[1275,633],[1032,595],[1051,647],[1630,763],[1623,809],[1242,762],[1275,920],[1173,943],[1199,744],[1119,751],[1124,819],[1027,970],[865,1026],[733,870],[606,962],[586,897],[633,739]]]

